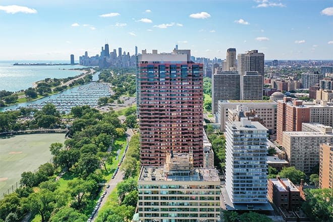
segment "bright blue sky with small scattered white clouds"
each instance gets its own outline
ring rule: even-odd
[[[333,60],[332,0],[1,0],[0,60],[78,60],[122,47],[226,58]]]

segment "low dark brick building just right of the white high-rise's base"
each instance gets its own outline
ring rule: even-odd
[[[277,177],[268,181],[268,198],[277,207],[293,210],[299,207],[300,191],[288,178]]]

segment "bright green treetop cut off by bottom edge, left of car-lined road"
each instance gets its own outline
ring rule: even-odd
[[[51,222],[67,221],[67,222],[81,222],[86,221],[87,216],[72,207],[63,207],[57,213],[51,216]]]

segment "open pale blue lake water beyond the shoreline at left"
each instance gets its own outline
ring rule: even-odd
[[[32,87],[32,83],[45,78],[67,78],[82,73],[80,65],[66,66],[13,66],[14,63],[69,63],[69,61],[0,61],[0,91],[16,92]]]

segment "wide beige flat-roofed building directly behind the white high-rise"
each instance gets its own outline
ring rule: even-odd
[[[237,105],[244,105],[248,109],[255,110],[255,114],[262,119],[263,125],[268,129],[269,134],[275,134],[276,128],[276,107],[277,103],[272,100],[220,100],[218,101],[217,122],[220,124],[220,131],[226,129],[226,122],[229,119],[229,109],[236,109]]]

